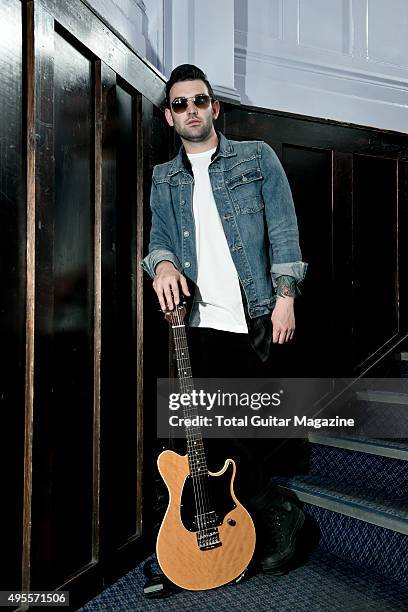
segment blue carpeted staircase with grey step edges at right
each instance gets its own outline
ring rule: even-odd
[[[407,376],[408,353],[387,367],[390,376]],[[398,404],[408,423],[408,384],[404,393],[376,389],[356,401],[366,414]],[[274,481],[303,502],[319,549],[408,587],[408,439],[313,433],[309,453],[306,474]]]

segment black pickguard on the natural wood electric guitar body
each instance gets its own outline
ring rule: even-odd
[[[234,500],[231,497],[230,486],[233,473],[233,464],[230,463],[222,474],[219,476],[200,476],[195,478],[195,487],[200,496],[201,484],[204,484],[201,479],[206,480],[209,504],[211,510],[215,511],[215,520],[212,526],[222,525],[225,515],[231,512],[236,507]],[[196,522],[196,504],[194,496],[194,483],[191,476],[187,476],[183,492],[181,496],[180,515],[183,525],[189,531],[198,531]]]

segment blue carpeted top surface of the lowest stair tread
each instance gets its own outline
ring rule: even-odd
[[[293,478],[273,477],[273,482],[295,492],[299,490],[312,494],[316,496],[316,499],[319,497],[331,498],[346,505],[361,507],[377,514],[406,521],[408,525],[407,497],[393,499],[390,493],[389,498],[385,499],[383,492],[364,489],[364,483],[356,490],[354,483],[330,481],[325,476],[319,475],[298,475]]]

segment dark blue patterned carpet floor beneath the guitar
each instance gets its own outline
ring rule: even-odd
[[[181,591],[166,599],[146,600],[144,582],[139,565],[81,611],[391,612],[406,610],[408,598],[406,587],[320,549],[286,576],[256,575],[211,591]]]

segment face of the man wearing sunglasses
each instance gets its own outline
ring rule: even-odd
[[[197,94],[207,94],[208,89],[203,81],[181,81],[175,83],[170,90],[170,104],[175,98],[192,98]],[[197,108],[192,100],[188,101],[187,109],[177,114],[173,109],[166,108],[167,123],[174,127],[177,134],[189,142],[207,140],[213,130],[213,121],[218,117],[220,105],[213,102],[208,108]]]

